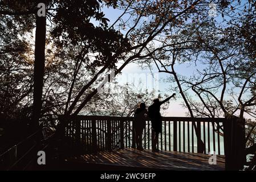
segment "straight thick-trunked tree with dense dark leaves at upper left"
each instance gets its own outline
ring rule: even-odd
[[[87,43],[84,51],[88,49],[98,52],[94,65],[107,64],[106,67],[113,67],[113,61],[109,59],[111,49],[120,48],[119,38],[121,36],[113,30],[107,28],[107,18],[100,12],[98,1],[40,1],[46,5],[46,16],[38,16],[37,5],[39,1],[3,1],[0,5],[2,16],[23,16],[21,21],[29,20],[32,24],[36,19],[35,27],[35,61],[34,61],[34,104],[32,110],[32,124],[38,127],[42,108],[44,57],[46,46],[46,18],[54,23],[54,28],[50,30],[51,37],[55,39],[55,44],[60,48],[68,44],[76,45],[79,42]],[[115,1],[105,2],[108,6],[115,6]],[[28,19],[27,16],[29,16]],[[95,18],[100,22],[96,27],[90,23],[90,19]],[[52,24],[51,24],[52,25]],[[30,27],[31,28],[31,27]],[[29,28],[28,28],[29,29]],[[30,29],[31,30],[31,29]],[[112,39],[110,39],[112,38]],[[71,40],[71,41],[68,41]],[[111,47],[112,46],[112,47]],[[122,47],[122,46],[121,46]],[[104,61],[105,60],[105,61]],[[71,86],[72,88],[72,86]]]

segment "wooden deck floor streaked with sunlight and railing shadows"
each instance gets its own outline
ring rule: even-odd
[[[224,170],[225,156],[217,155],[217,164],[210,165],[206,154],[124,148],[73,156],[65,160],[68,166],[84,170]]]

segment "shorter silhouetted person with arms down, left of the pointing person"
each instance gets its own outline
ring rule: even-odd
[[[146,109],[146,105],[144,103],[140,103],[139,107],[136,109],[134,117],[134,127],[135,127],[135,143],[138,150],[143,150],[142,147],[142,133],[143,129],[146,126],[145,114],[148,114]]]

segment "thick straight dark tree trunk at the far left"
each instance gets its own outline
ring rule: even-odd
[[[31,125],[34,130],[39,127],[42,109],[43,76],[46,47],[46,17],[36,15],[35,31],[35,62],[34,62],[34,93]]]

